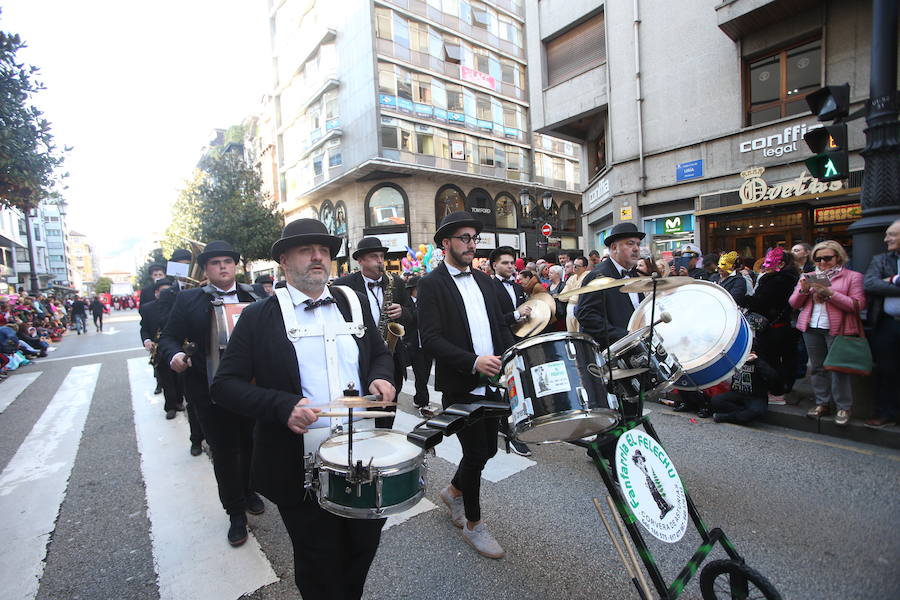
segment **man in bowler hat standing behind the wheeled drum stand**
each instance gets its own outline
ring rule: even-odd
[[[582,286],[597,277],[638,276],[634,268],[641,257],[644,235],[634,223],[615,225],[603,241],[609,248],[609,256],[584,278]],[[578,298],[575,317],[582,330],[606,348],[628,335],[628,321],[641,300],[643,294],[622,294],[615,288],[584,294]]]

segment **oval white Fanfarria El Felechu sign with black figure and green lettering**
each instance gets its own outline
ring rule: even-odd
[[[687,499],[659,442],[632,429],[616,444],[616,473],[626,504],[653,537],[674,544],[687,529]]]

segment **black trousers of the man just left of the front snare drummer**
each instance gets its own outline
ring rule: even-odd
[[[219,500],[229,515],[247,509],[253,420],[229,412],[209,400],[193,402],[209,449],[219,487]]]

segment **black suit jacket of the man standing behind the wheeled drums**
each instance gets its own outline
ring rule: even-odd
[[[598,277],[621,279],[622,275],[607,257],[585,276],[581,285],[585,286]],[[628,321],[632,314],[634,305],[631,304],[631,296],[621,293],[619,288],[578,296],[578,307],[575,309],[575,318],[581,330],[603,348],[628,335]]]

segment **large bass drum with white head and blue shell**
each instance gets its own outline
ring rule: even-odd
[[[628,323],[636,331],[650,322],[652,295],[644,298]],[[750,354],[753,333],[734,298],[722,286],[697,281],[656,299],[656,317],[672,315],[656,326],[663,346],[681,364],[684,374],[675,381],[679,390],[702,390],[731,377]]]

